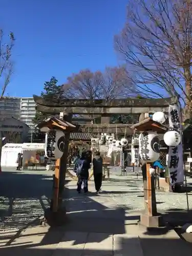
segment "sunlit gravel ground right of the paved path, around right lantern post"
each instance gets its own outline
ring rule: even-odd
[[[117,203],[117,205],[121,205],[122,207],[129,208],[130,211],[140,211],[144,209],[143,204],[143,184],[142,184],[142,177],[139,176],[138,179],[136,176],[129,175],[123,177],[118,177],[121,181],[119,189],[122,191],[121,195],[118,193],[115,194],[115,190],[111,196],[113,200]],[[111,179],[113,180],[113,179]],[[110,183],[117,183],[114,181],[110,181]],[[192,179],[187,178],[187,183],[189,185],[192,184]],[[192,190],[192,189],[191,189]],[[123,193],[124,191],[124,193]],[[175,194],[175,193],[164,193],[161,191],[156,191],[156,200],[157,200],[157,209],[159,211],[166,211],[166,210],[176,210],[176,209],[187,209],[187,200],[186,200],[186,193],[182,194]],[[192,192],[188,193],[188,203],[189,209],[192,209]]]

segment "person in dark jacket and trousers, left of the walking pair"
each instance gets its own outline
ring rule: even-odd
[[[83,184],[84,193],[88,193],[88,178],[89,178],[90,162],[87,159],[86,152],[82,152],[81,158],[76,162],[75,173],[78,177],[77,191],[81,193],[81,186]]]

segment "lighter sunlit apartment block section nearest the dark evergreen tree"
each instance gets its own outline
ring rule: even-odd
[[[35,101],[33,97],[20,98],[20,121],[30,127],[34,127],[33,118],[35,117]]]

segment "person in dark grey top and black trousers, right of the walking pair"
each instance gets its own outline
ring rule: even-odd
[[[96,193],[99,194],[102,185],[102,174],[103,174],[103,159],[100,152],[96,152],[93,158],[93,176],[95,182]]]

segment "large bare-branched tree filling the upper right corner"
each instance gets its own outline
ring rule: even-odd
[[[144,96],[176,96],[192,114],[191,0],[130,0],[115,49]]]

